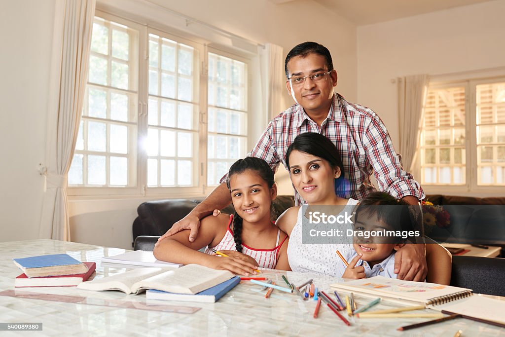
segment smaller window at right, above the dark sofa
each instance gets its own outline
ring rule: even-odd
[[[430,85],[420,151],[424,185],[505,185],[505,81]]]

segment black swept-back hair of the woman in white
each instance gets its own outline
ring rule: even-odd
[[[338,167],[340,169],[340,176],[335,179],[335,187],[340,186],[344,180],[344,165],[335,144],[330,139],[316,132],[305,132],[296,136],[286,151],[288,170],[289,155],[294,150],[324,159],[330,163],[331,167]]]

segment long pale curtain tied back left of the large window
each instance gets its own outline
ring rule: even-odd
[[[59,90],[55,90],[57,103],[48,111],[46,189],[40,238],[70,240],[67,176],[84,102],[94,12],[95,0],[56,2],[54,50],[60,51],[60,63],[52,70],[59,72]]]

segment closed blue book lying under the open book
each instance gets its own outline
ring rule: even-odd
[[[230,290],[232,290],[238,283],[240,283],[240,277],[235,276],[227,281],[224,281],[223,283],[219,283],[218,285],[215,285],[207,290],[204,290],[203,292],[199,292],[194,295],[168,293],[162,292],[160,290],[150,289],[145,292],[145,298],[149,300],[214,303]]]

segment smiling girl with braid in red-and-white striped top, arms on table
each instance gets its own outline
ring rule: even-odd
[[[271,204],[277,196],[272,169],[259,158],[240,159],[230,168],[227,186],[234,215],[210,215],[202,219],[193,242],[188,240],[189,230],[161,240],[155,247],[155,257],[243,275],[254,274],[258,266],[290,270],[287,234],[270,219]],[[206,246],[205,253],[198,252]],[[213,250],[228,257],[216,256]]]

